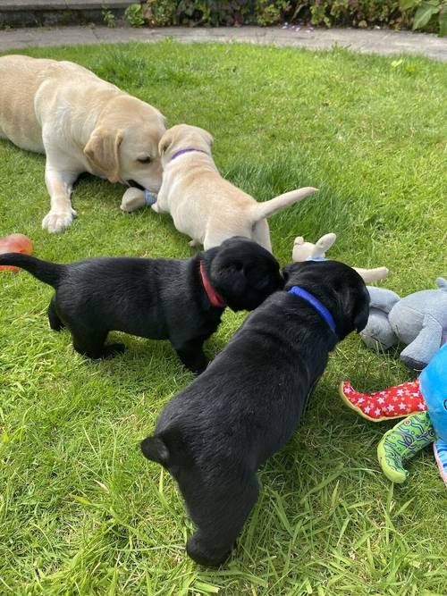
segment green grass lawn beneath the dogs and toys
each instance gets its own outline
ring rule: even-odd
[[[446,274],[447,70],[422,58],[239,45],[72,47],[27,51],[79,62],[159,107],[170,124],[215,136],[215,161],[258,199],[320,192],[270,220],[275,255],[296,235],[338,234],[330,255],[386,264],[401,294]],[[79,217],[40,228],[44,158],[0,143],[0,236],[35,254],[190,256],[187,238],[151,210],[123,215],[122,187],[85,177]],[[191,380],[166,342],[126,336],[127,352],[92,363],[50,332],[52,290],[1,275],[0,594],[298,596],[447,593],[445,487],[433,453],[392,486],[375,457],[391,424],[368,424],[337,397],[350,379],[375,390],[409,378],[397,353],[345,340],[298,432],[259,473],[262,490],[228,564],[196,567],[168,474],[139,453],[164,404]],[[215,354],[242,322],[227,313]]]

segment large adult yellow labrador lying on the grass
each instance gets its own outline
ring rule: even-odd
[[[72,185],[81,172],[111,182],[134,180],[156,192],[164,130],[156,108],[79,64],[0,57],[0,138],[46,154],[51,209],[42,227],[47,231],[72,223]]]

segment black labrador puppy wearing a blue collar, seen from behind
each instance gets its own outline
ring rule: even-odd
[[[367,324],[361,277],[335,261],[296,263],[205,373],[174,397],[141,443],[173,475],[197,531],[202,565],[228,557],[257,501],[257,468],[289,441],[328,355]]]

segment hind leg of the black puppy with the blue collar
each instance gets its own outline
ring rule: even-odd
[[[257,501],[259,488],[254,474],[233,482],[226,483],[223,474],[207,487],[208,494],[204,494],[203,486],[198,483],[200,493],[193,502],[186,499],[191,519],[198,528],[186,542],[186,550],[200,565],[215,567],[228,558]],[[215,486],[220,488],[216,491]]]

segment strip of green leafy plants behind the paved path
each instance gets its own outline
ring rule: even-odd
[[[151,26],[309,22],[325,27],[413,26],[447,34],[445,0],[146,0],[142,15]]]

